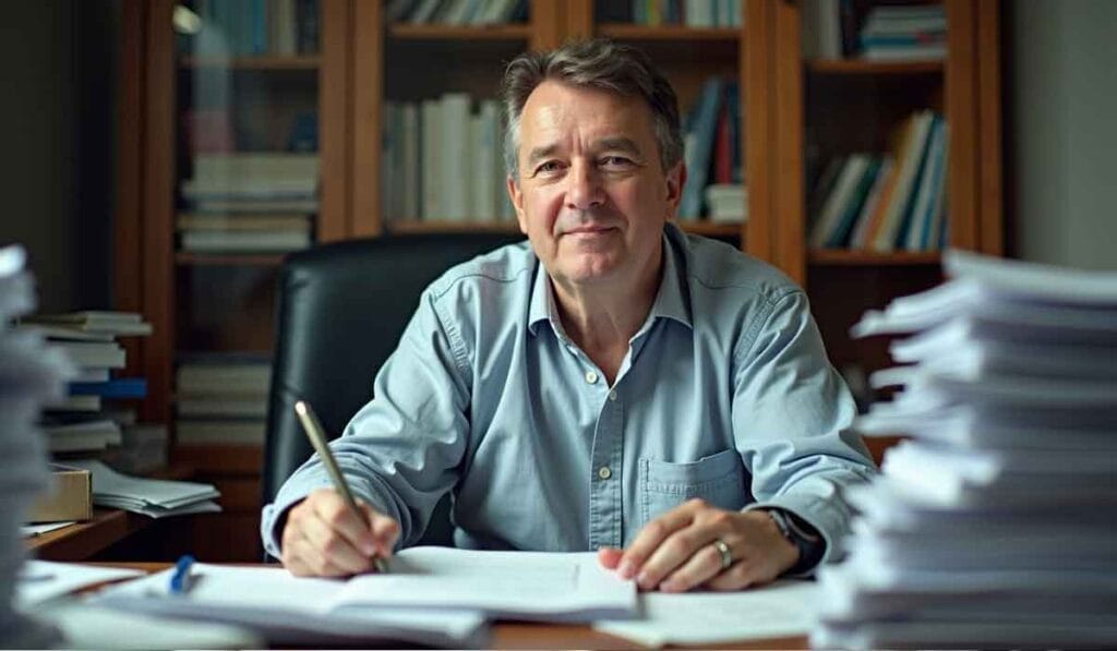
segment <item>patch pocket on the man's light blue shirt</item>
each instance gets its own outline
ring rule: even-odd
[[[744,468],[736,450],[690,463],[640,459],[640,515],[645,524],[696,497],[726,510],[747,504]]]

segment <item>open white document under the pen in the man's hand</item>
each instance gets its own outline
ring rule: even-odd
[[[588,622],[637,614],[636,584],[593,553],[478,552],[412,547],[388,574],[351,580],[331,605],[477,609],[493,616]]]

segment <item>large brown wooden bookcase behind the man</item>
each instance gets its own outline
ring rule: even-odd
[[[142,312],[155,327],[155,335],[128,354],[133,372],[149,379],[151,399],[142,414],[147,420],[173,422],[179,394],[174,373],[182,353],[269,353],[271,287],[283,261],[280,252],[178,247],[182,107],[191,98],[183,92],[184,77],[219,73],[238,88],[251,88],[238,96],[238,111],[248,112],[261,137],[270,134],[275,142],[294,112],[316,113],[321,183],[315,242],[397,232],[514,232],[515,221],[495,212],[417,219],[418,212],[391,208],[385,202],[391,184],[384,179],[394,165],[382,141],[393,105],[446,93],[468,94],[475,104],[495,97],[504,64],[524,49],[588,36],[640,47],[675,85],[684,115],[708,78],[733,80],[742,113],[733,144],[739,147],[748,189],[748,219],[679,223],[767,260],[803,284],[839,368],[882,365],[885,344],[852,342],[848,326],[868,307],[936,283],[941,270],[937,251],[809,245],[809,182],[828,156],[859,147],[881,151],[890,131],[911,111],[938,109],[951,124],[951,243],[1001,252],[995,0],[945,0],[944,60],[889,63],[804,58],[803,2],[741,0],[741,25],[688,27],[640,25],[630,13],[631,3],[604,0],[528,0],[516,21],[485,26],[391,21],[384,2],[317,0],[318,51],[227,57],[178,49],[171,27],[175,4],[123,3],[115,307]],[[853,2],[861,12],[871,4]],[[236,495],[235,509],[199,527],[199,540],[209,536],[200,543],[213,554],[209,559],[259,557],[259,504],[251,495],[260,458],[258,446],[172,450],[172,459],[191,463]]]

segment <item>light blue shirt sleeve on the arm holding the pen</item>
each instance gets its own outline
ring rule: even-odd
[[[400,344],[376,375],[373,399],[330,443],[353,492],[400,524],[397,545],[414,544],[457,479],[467,448],[468,356],[432,291],[423,294]],[[264,507],[260,534],[279,557],[279,526],[312,491],[331,486],[311,457]]]

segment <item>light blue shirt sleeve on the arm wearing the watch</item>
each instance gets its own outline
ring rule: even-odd
[[[734,438],[755,498],[745,508],[779,507],[801,517],[825,540],[825,563],[841,556],[849,532],[842,489],[876,469],[848,429],[857,409],[803,293],[771,299],[760,323],[742,338],[734,363]]]

